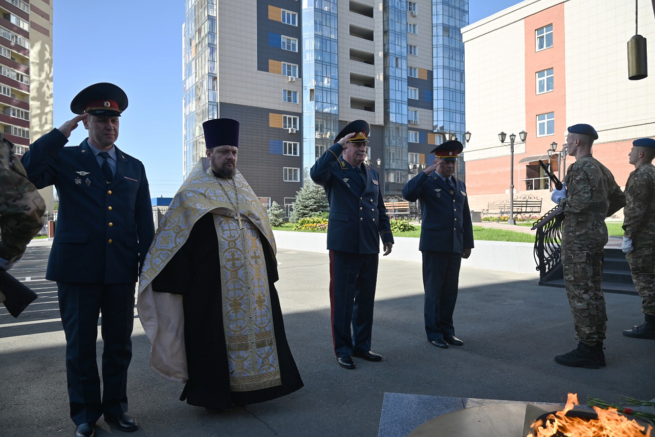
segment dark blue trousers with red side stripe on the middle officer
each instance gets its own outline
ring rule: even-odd
[[[353,350],[371,350],[378,259],[379,254],[329,251],[332,339],[337,357],[350,356]]]

